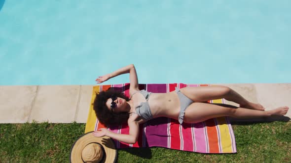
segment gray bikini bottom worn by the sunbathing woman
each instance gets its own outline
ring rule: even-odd
[[[193,101],[191,99],[189,99],[187,96],[185,96],[180,89],[178,89],[177,87],[175,87],[175,91],[178,94],[179,100],[180,100],[180,106],[181,106],[181,110],[179,113],[179,123],[182,124],[183,123],[183,119],[184,119],[184,114],[185,114],[185,110],[186,108],[193,103]]]

